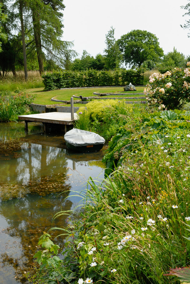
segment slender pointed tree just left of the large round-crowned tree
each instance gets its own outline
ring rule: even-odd
[[[114,32],[115,29],[111,27],[106,34],[106,48],[104,49],[106,69],[111,70],[119,68],[122,60],[121,51],[119,50],[119,46],[115,40]]]

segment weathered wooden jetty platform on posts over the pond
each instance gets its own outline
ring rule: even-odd
[[[24,120],[26,131],[28,131],[28,122],[42,122],[44,124],[44,131],[46,131],[46,123],[56,123],[65,125],[66,132],[66,126],[73,124],[74,120],[77,119],[77,114],[74,113],[73,117],[74,119],[71,119],[71,112],[45,112],[38,114],[19,115],[18,119]]]

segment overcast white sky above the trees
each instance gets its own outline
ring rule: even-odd
[[[115,38],[131,30],[147,30],[156,35],[164,53],[173,50],[190,55],[186,10],[188,0],[64,0],[63,40],[73,41],[79,57],[86,49],[92,56],[103,54],[105,35],[115,28]],[[190,30],[189,30],[190,32]]]

